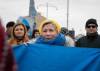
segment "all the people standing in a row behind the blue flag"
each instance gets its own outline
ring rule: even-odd
[[[43,21],[38,28],[33,28],[31,38],[28,35],[30,27],[27,27],[27,25],[22,22],[15,23],[14,21],[10,21],[7,23],[6,28],[8,35],[7,42],[11,46],[23,43],[39,43],[66,47],[100,47],[98,23],[97,20],[93,18],[86,21],[86,36],[80,38],[72,38],[66,27],[61,27],[57,21],[50,19]]]

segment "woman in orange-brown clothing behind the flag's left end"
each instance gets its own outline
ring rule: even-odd
[[[12,38],[8,41],[11,46],[16,46],[28,42],[27,29],[24,24],[17,23],[12,30]]]

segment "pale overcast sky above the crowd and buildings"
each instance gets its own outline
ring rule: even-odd
[[[46,3],[49,5],[48,17],[67,27],[67,0],[35,0],[37,11],[44,16],[47,16]],[[4,24],[16,21],[19,16],[27,16],[28,11],[29,0],[0,0],[0,16]],[[85,33],[85,22],[89,18],[96,18],[100,23],[100,0],[69,0],[69,29],[74,28],[76,34]]]

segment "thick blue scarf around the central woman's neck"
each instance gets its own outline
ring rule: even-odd
[[[51,40],[46,40],[44,37],[40,36],[37,38],[35,43],[64,46],[66,43],[66,38],[63,34],[58,34],[54,39]]]

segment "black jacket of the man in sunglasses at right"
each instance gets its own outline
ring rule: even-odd
[[[84,36],[76,42],[76,47],[100,48],[100,35]]]

